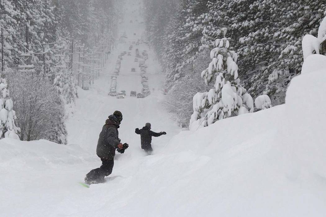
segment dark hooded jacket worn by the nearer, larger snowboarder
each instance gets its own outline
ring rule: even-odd
[[[112,115],[105,121],[105,125],[99,135],[96,154],[100,158],[113,159],[115,156],[115,149],[120,143],[119,128],[120,122],[116,120]]]

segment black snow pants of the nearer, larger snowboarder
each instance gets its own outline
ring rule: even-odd
[[[108,176],[112,173],[114,161],[112,159],[104,159],[101,158],[102,165],[99,168],[91,170],[89,173],[86,174],[87,180],[104,180],[105,176]]]

